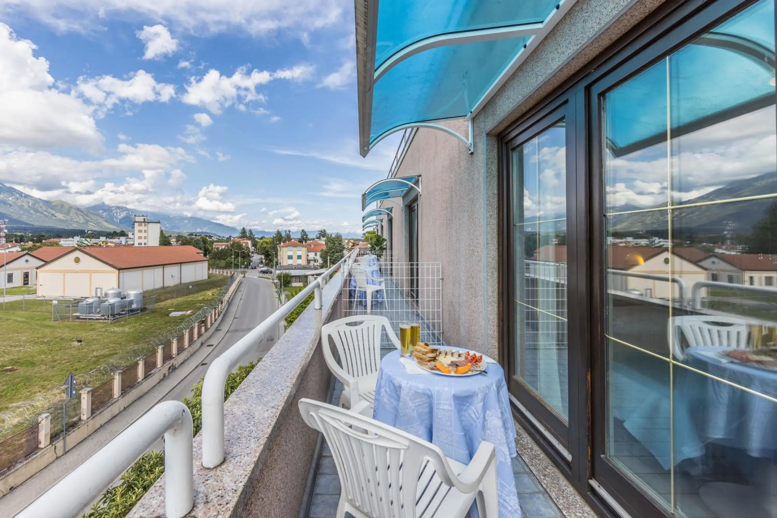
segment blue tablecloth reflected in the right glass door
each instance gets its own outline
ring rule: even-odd
[[[717,360],[726,350],[689,347],[683,363],[707,374],[777,397],[777,372]],[[664,375],[615,363],[612,411],[665,468],[671,466],[672,406],[668,366]],[[665,379],[664,379],[665,378]],[[724,444],[750,457],[777,456],[777,403],[692,370],[674,367],[674,464],[705,454],[706,443]]]

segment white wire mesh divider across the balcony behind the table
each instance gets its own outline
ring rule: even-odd
[[[399,325],[418,322],[422,342],[443,344],[440,262],[391,262],[360,256],[350,269],[345,293],[346,316],[385,316],[398,334]]]

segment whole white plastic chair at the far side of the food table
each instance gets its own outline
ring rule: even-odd
[[[356,322],[361,324],[349,325]],[[375,403],[375,384],[381,367],[381,335],[384,329],[389,340],[399,349],[399,338],[385,317],[354,315],[321,327],[324,360],[332,374],[343,383],[340,402],[348,408],[354,408],[360,401],[368,402],[370,407]],[[333,356],[330,337],[342,366]]]

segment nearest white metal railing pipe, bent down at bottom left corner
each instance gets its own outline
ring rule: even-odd
[[[110,484],[165,436],[165,516],[181,518],[194,506],[192,416],[182,402],[159,403],[58,481],[16,518],[81,516]]]

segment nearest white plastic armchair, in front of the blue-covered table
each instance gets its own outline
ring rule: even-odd
[[[324,434],[340,477],[336,518],[462,518],[477,502],[497,518],[497,457],[480,443],[469,464],[392,426],[343,408],[301,399],[302,419]]]

